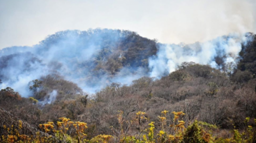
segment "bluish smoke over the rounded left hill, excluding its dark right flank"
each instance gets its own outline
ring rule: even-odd
[[[52,72],[77,83],[87,93],[95,93],[111,82],[130,84],[147,73],[140,68],[129,67],[120,69],[115,76],[106,72],[100,73],[100,77],[92,74],[95,58],[101,49],[113,51],[111,48],[118,47],[118,41],[129,34],[129,31],[111,29],[67,30],[50,35],[33,47],[20,47],[24,51],[16,47],[0,50],[0,57],[5,59],[4,64],[7,65],[0,70],[0,77],[5,77],[0,88],[12,87],[28,97],[32,95],[28,83]],[[107,43],[102,44],[104,41]],[[10,58],[7,60],[4,57]]]

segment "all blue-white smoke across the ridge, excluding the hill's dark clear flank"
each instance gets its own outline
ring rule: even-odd
[[[236,63],[241,45],[248,41],[246,36],[229,34],[203,43],[158,43],[157,54],[148,59],[148,68],[125,65],[115,75],[95,71],[95,59],[102,49],[114,51],[120,40],[126,41],[125,31],[61,31],[33,48],[23,47],[24,52],[16,47],[0,50],[0,66],[3,66],[0,77],[4,77],[0,88],[11,87],[28,97],[32,94],[28,87],[30,81],[57,72],[65,80],[77,83],[84,92],[95,93],[111,82],[130,85],[143,76],[162,77],[173,72],[182,62],[210,64],[218,68],[215,57],[225,56],[225,64]],[[109,42],[103,44],[103,41]],[[105,58],[101,60],[106,61],[108,57]],[[99,73],[95,75],[94,72]]]

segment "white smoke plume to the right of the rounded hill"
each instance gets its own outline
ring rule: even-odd
[[[166,73],[174,72],[182,62],[209,64],[211,67],[217,68],[216,56],[227,56],[225,64],[236,63],[242,48],[241,44],[246,42],[245,36],[230,34],[208,42],[188,44],[187,46],[161,44],[157,55],[149,59],[150,76],[162,77]]]

